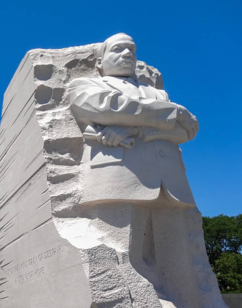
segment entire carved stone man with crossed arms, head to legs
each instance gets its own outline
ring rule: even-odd
[[[69,84],[86,142],[80,203],[92,236],[82,259],[93,307],[226,307],[178,146],[196,136],[198,121],[134,79],[136,60],[133,39],[113,35],[97,59],[100,78]]]

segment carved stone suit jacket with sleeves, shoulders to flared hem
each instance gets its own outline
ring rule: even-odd
[[[86,140],[81,203],[154,200],[162,187],[174,204],[195,206],[178,147],[187,133],[165,91],[131,78],[77,78],[69,84],[69,98],[82,132],[97,124],[138,126],[142,132],[132,149]]]

